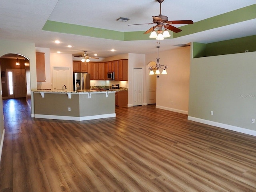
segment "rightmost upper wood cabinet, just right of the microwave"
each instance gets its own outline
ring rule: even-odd
[[[128,81],[128,60],[122,59],[114,61],[115,80]]]

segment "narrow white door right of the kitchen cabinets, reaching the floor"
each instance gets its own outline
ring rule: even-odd
[[[142,105],[142,69],[133,69],[133,106]]]

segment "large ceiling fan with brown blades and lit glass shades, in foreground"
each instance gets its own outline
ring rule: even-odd
[[[194,23],[192,20],[168,21],[168,17],[161,14],[161,4],[162,2],[164,2],[164,0],[157,0],[157,1],[160,3],[160,14],[158,16],[152,16],[153,23],[132,24],[132,25],[156,24],[156,26],[153,26],[149,30],[144,32],[144,34],[151,32],[150,38],[156,38],[156,40],[163,40],[166,37],[170,37],[168,30],[171,30],[175,33],[181,32],[181,29],[176,28],[171,24],[193,24]],[[164,28],[164,32],[162,34],[163,28]],[[156,33],[155,29],[157,29],[158,34]]]

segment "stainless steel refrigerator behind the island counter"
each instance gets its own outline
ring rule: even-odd
[[[74,73],[74,91],[90,89],[89,73]]]

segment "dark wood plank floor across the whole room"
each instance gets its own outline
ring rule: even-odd
[[[1,192],[256,192],[254,136],[154,105],[78,122],[3,104]]]

